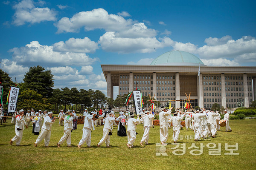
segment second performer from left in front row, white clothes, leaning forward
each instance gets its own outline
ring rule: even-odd
[[[55,117],[52,119],[52,112],[48,112],[48,116],[44,118],[44,125],[42,126],[41,133],[38,136],[38,139],[36,139],[34,146],[37,147],[37,145],[42,142],[44,139],[44,147],[49,147],[49,142],[51,139],[51,130],[52,130],[52,124],[55,122]]]

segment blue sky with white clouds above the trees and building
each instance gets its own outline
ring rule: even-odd
[[[102,90],[101,64],[150,64],[172,50],[206,65],[256,66],[253,0],[4,0],[0,67],[22,81],[30,66],[55,87]]]

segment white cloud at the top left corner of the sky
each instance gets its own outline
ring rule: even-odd
[[[55,21],[57,12],[49,8],[37,8],[32,0],[22,0],[13,6],[15,14],[13,24],[21,26],[25,23],[40,23],[42,21]],[[44,1],[39,1],[43,5]]]

